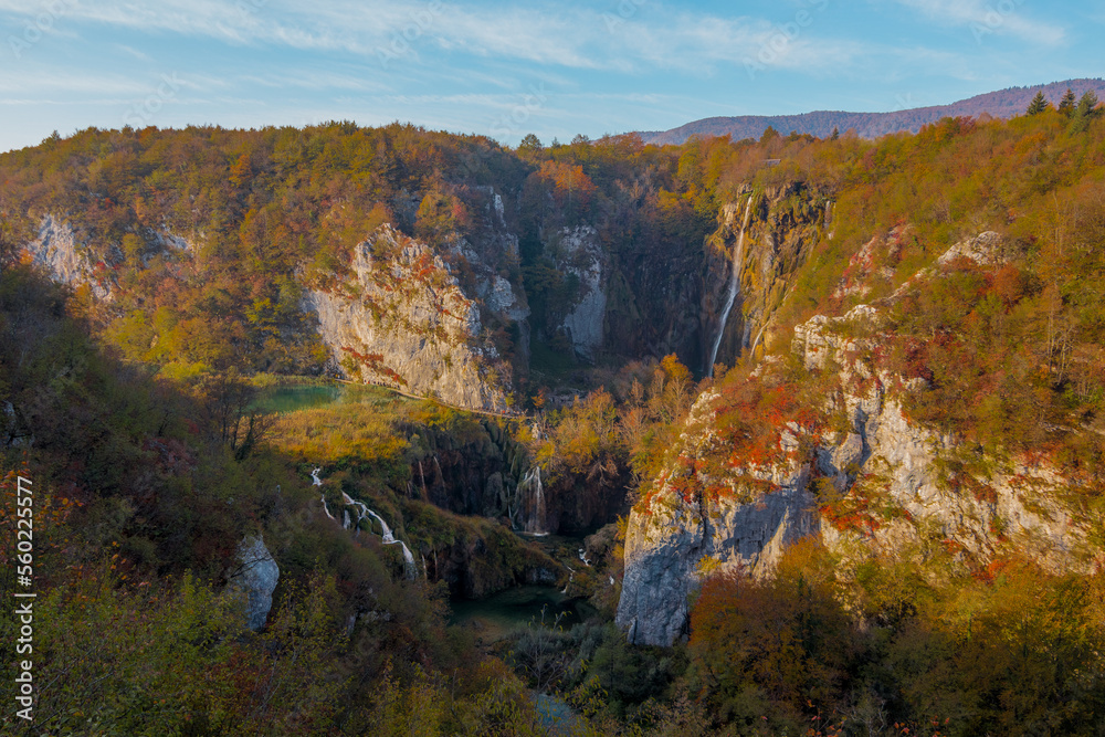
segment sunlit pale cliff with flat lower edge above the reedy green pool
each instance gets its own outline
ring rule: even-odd
[[[303,303],[348,376],[469,409],[507,410],[511,367],[441,255],[383,225],[355,248],[351,271],[348,281],[308,291]],[[508,318],[528,314],[506,280],[487,294]]]

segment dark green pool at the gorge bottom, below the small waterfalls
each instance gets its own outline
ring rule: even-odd
[[[569,629],[586,617],[588,604],[569,599],[559,589],[546,586],[519,586],[481,599],[478,601],[453,602],[452,624],[471,629],[484,642],[502,640],[516,628],[530,622],[551,625],[560,614],[560,627]]]

